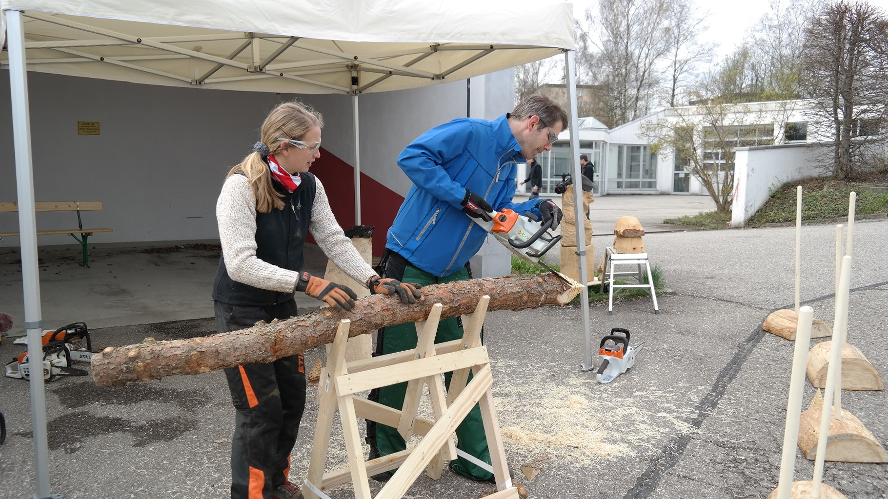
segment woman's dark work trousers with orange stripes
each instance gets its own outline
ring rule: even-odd
[[[216,302],[219,333],[250,328],[257,321],[297,315],[296,300],[271,306]],[[274,362],[226,368],[237,412],[231,445],[232,499],[268,499],[287,481],[289,454],[305,409],[305,360],[302,354]]]

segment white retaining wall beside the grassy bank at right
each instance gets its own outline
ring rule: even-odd
[[[765,205],[773,190],[796,180],[818,177],[813,159],[829,154],[815,144],[738,147],[735,149],[731,226],[741,227]]]

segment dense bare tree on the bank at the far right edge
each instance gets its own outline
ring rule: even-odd
[[[853,178],[888,124],[888,20],[873,5],[826,5],[805,32],[802,82],[813,99],[809,133],[834,145],[824,167]]]

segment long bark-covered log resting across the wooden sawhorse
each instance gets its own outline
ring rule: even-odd
[[[271,362],[333,341],[339,321],[352,321],[349,337],[404,322],[424,321],[432,305],[444,305],[441,319],[472,313],[481,296],[488,295],[488,311],[524,310],[544,305],[566,305],[583,286],[568,286],[550,273],[435,284],[422,289],[423,299],[402,304],[397,297],[373,295],[355,302],[350,312],[325,308],[286,321],[257,322],[255,326],[209,337],[172,341],[153,338],[139,345],[107,347],[91,360],[92,378],[99,386],[122,387],[170,375],[194,375],[250,362]]]

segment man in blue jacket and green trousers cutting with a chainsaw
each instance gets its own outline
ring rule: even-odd
[[[514,203],[511,198],[515,194],[517,163],[551,150],[566,125],[564,109],[535,94],[492,122],[458,118],[414,140],[398,156],[398,165],[413,186],[388,231],[381,264],[383,277],[422,285],[471,279],[469,258],[487,236],[471,218],[490,220],[488,213],[493,211],[530,211],[543,221],[555,218],[553,227],[557,227],[561,210],[551,200]],[[436,343],[460,337],[463,328],[458,318],[440,321]],[[412,322],[378,331],[377,354],[410,348],[416,348]],[[450,374],[445,375],[448,386]],[[400,409],[406,389],[406,383],[384,386],[371,392],[370,399]],[[371,459],[406,448],[395,428],[368,422],[367,433]],[[477,405],[457,427],[456,438],[458,450],[490,463]],[[450,468],[472,479],[493,479],[493,473],[462,456],[452,461]],[[374,478],[389,476],[381,473]]]

